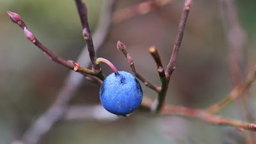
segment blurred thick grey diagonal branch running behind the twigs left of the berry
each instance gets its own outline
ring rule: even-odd
[[[108,34],[109,27],[111,24],[111,15],[115,7],[115,1],[106,1],[106,8],[102,11],[102,15],[99,19],[99,26],[97,26],[96,31],[93,33],[93,38],[97,41],[95,42],[95,51],[99,49],[100,45],[103,44],[106,35]],[[77,63],[80,65],[89,65],[90,58],[88,57],[87,46],[84,47],[83,51],[80,53]],[[83,76],[72,71],[66,77],[62,88],[58,95],[56,95],[56,100],[53,104],[42,113],[35,122],[33,122],[29,128],[24,132],[22,138],[18,140],[20,143],[24,141],[27,144],[37,143],[40,138],[47,133],[52,125],[54,125],[61,117],[64,115],[68,102],[74,96],[74,92],[79,88],[79,84],[83,81]],[[93,79],[98,84],[102,83],[99,79]],[[15,141],[17,142],[17,141]],[[14,143],[14,142],[13,142]]]

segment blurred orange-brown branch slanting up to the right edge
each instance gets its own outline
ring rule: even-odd
[[[241,84],[240,86],[236,86],[228,95],[225,97],[225,99],[221,100],[221,102],[218,102],[216,104],[212,104],[207,111],[209,113],[218,113],[222,108],[227,106],[232,100],[237,99],[239,96],[243,95],[245,90],[248,90],[252,83],[256,80],[256,67],[254,67],[254,70],[251,74],[251,76],[248,77],[248,80],[245,81],[244,84]]]

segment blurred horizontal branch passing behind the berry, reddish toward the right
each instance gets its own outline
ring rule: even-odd
[[[141,108],[147,108],[148,110],[154,105],[152,100],[147,97],[143,97],[143,102],[141,103]],[[106,113],[107,111],[102,108],[102,106],[70,106],[63,116],[63,120],[117,120],[118,117],[111,113]],[[248,122],[240,122],[238,120],[233,120],[230,118],[224,118],[220,115],[212,115],[204,111],[203,109],[193,109],[183,106],[171,106],[165,105],[160,111],[160,115],[177,115],[185,116],[189,118],[198,118],[209,124],[216,125],[230,125],[232,127],[237,127],[237,129],[247,129],[249,131],[256,131],[256,124]]]

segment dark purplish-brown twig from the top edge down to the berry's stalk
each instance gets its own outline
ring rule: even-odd
[[[92,69],[97,71],[101,71],[99,65],[96,65],[95,61],[97,60],[97,56],[94,50],[92,36],[90,27],[88,24],[88,10],[86,4],[82,2],[82,0],[76,0],[77,12],[79,14],[81,24],[83,27],[83,34],[86,32],[86,36],[84,36],[84,40],[86,40],[86,44],[88,45],[88,51],[90,55],[90,59],[92,61]],[[85,32],[84,32],[85,31]]]

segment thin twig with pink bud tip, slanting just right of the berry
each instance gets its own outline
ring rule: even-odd
[[[130,64],[131,70],[133,72],[133,74],[140,79],[140,81],[142,81],[148,88],[151,88],[152,90],[156,91],[157,93],[160,92],[160,88],[152,83],[150,83],[147,79],[145,79],[143,76],[141,76],[135,69],[134,67],[134,63],[132,61],[132,57],[130,56],[130,54],[127,53],[126,49],[125,49],[125,45],[118,41],[117,42],[117,49],[121,52],[123,52],[125,58],[127,59],[128,63]]]

